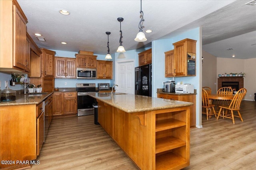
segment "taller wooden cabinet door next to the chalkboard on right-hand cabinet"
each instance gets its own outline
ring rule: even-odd
[[[182,76],[186,75],[186,49],[185,43],[174,46],[174,57],[175,57],[175,75]]]

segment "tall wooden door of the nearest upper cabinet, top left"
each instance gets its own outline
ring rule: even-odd
[[[14,10],[14,46],[13,46],[13,64],[14,66],[26,70],[26,21],[20,14],[16,6],[13,6]]]

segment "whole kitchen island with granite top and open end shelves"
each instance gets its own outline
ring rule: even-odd
[[[190,164],[193,103],[133,94],[90,92],[98,122],[142,170],[182,169]]]

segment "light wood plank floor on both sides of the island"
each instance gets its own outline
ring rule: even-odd
[[[244,122],[235,117],[208,121],[190,129],[190,166],[184,170],[253,170],[256,168],[256,102],[243,101]],[[138,170],[93,115],[53,119],[32,170]]]

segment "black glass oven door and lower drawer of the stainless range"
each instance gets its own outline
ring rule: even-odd
[[[77,94],[77,115],[93,115],[94,108],[92,104],[96,103],[96,99],[88,96],[84,92],[78,92]]]

